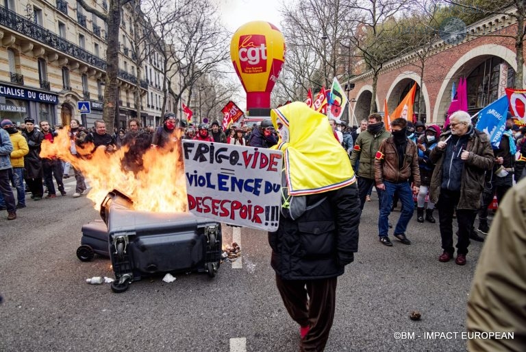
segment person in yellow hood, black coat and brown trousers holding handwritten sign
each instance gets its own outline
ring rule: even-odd
[[[336,283],[358,251],[360,199],[347,152],[329,120],[303,102],[271,110],[283,151],[281,216],[268,233],[276,285],[299,325],[300,351],[323,351]]]

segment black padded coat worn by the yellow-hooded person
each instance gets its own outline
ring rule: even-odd
[[[356,183],[307,197],[308,205],[327,198],[297,220],[281,216],[277,231],[268,233],[271,265],[285,280],[338,277],[358,251],[361,212]]]

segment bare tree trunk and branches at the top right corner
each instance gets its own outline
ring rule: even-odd
[[[526,34],[526,2],[524,0],[484,0],[484,1],[459,1],[445,0],[447,3],[463,8],[475,14],[484,14],[484,17],[491,15],[510,16],[517,21],[516,30],[510,27],[503,28],[491,33],[474,34],[475,36],[498,36],[501,38],[511,38],[514,40],[515,60],[517,70],[515,75],[515,89],[523,89],[524,86],[524,40]],[[470,34],[471,35],[471,34]]]

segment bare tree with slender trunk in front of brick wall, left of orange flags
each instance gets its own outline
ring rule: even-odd
[[[358,12],[358,25],[349,28],[349,39],[356,47],[367,67],[373,73],[373,94],[370,113],[376,107],[378,76],[384,64],[403,54],[393,45],[400,31],[397,27],[397,15],[406,10],[408,0],[351,0],[349,8]]]

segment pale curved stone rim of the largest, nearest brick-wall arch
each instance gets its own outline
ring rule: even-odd
[[[445,76],[444,82],[442,82],[440,90],[436,95],[432,121],[438,122],[438,119],[440,119],[440,122],[444,121],[444,114],[447,113],[447,109],[451,103],[451,89],[453,87],[453,82],[458,82],[458,79],[463,75],[467,76],[475,67],[491,56],[502,58],[508,62],[515,71],[517,70],[515,53],[507,47],[487,44],[471,49],[453,64]]]

